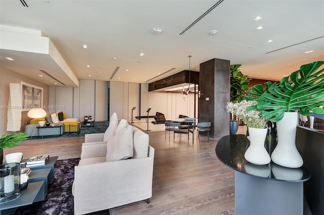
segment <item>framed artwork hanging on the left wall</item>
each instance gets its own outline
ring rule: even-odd
[[[22,94],[22,110],[29,111],[33,108],[43,108],[43,88],[25,82],[20,82]]]

